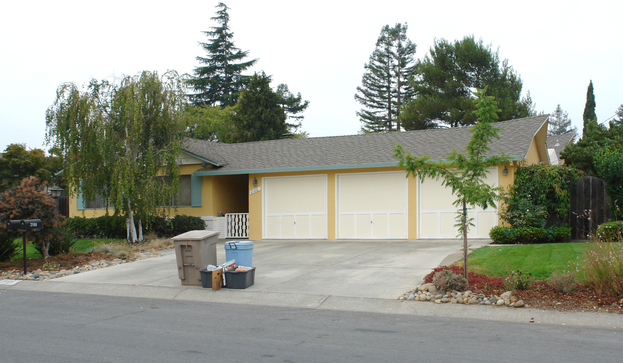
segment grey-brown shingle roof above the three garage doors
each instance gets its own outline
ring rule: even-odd
[[[493,140],[490,155],[523,160],[535,133],[549,115],[495,123],[502,128]],[[201,170],[205,174],[322,170],[396,165],[393,148],[400,143],[412,155],[430,155],[440,160],[455,148],[462,151],[470,140],[470,127],[437,128],[406,132],[369,133],[312,138],[290,138],[247,143],[217,143],[186,139],[184,148],[220,167]],[[386,164],[386,165],[385,165]]]

